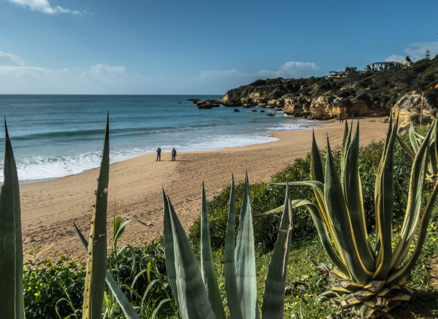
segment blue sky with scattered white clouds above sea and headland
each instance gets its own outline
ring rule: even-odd
[[[438,2],[0,0],[0,94],[223,94],[438,54]]]

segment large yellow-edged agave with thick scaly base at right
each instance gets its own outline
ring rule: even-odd
[[[316,145],[311,148],[311,180],[290,182],[291,185],[313,187],[318,205],[310,201],[291,201],[292,207],[304,205],[309,210],[323,248],[334,264],[335,281],[332,292],[349,309],[363,318],[374,318],[389,312],[412,295],[405,283],[419,258],[426,228],[438,195],[438,183],[427,203],[422,205],[423,186],[430,164],[431,137],[436,123],[419,144],[414,155],[409,180],[409,195],[400,240],[392,249],[394,206],[394,142],[398,120],[389,123],[387,139],[375,181],[375,241],[366,231],[362,186],[358,171],[359,123],[354,137],[346,130],[341,156],[341,178],[327,139],[327,158],[324,162]],[[278,183],[277,185],[284,185]],[[266,212],[268,215],[278,209]]]

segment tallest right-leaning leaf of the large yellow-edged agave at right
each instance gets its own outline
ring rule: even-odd
[[[414,239],[416,225],[420,217],[421,194],[423,193],[425,167],[427,166],[428,145],[431,133],[432,130],[429,130],[412,164],[405,220],[403,221],[400,241],[394,251],[394,257],[391,260],[391,266],[393,268],[397,268],[400,263],[402,263]]]

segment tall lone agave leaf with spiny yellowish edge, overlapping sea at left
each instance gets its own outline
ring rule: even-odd
[[[83,293],[82,318],[101,318],[105,290],[106,270],[106,205],[109,178],[109,120],[106,131],[99,182],[97,183],[96,204],[92,217],[92,228],[88,242],[87,274]]]

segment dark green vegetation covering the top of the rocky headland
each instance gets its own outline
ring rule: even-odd
[[[306,79],[258,79],[251,84],[227,92],[229,100],[258,96],[258,100],[305,98],[321,95],[336,98],[336,104],[347,106],[361,101],[367,107],[389,109],[406,93],[424,92],[432,107],[438,107],[438,56],[423,59],[409,67],[389,68],[380,72],[357,72],[347,68],[341,77],[309,77]]]

